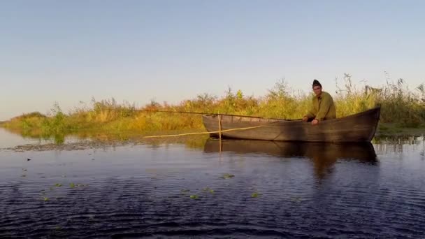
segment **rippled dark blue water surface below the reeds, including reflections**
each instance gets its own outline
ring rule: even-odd
[[[24,152],[10,147],[43,142],[0,139],[2,238],[425,236],[423,138]]]

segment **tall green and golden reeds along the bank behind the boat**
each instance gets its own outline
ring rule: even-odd
[[[353,84],[345,74],[343,86],[338,85],[333,95],[337,117],[359,113],[380,105],[381,122],[398,127],[424,126],[425,89],[419,85],[408,89],[403,79],[387,80],[382,87]],[[333,94],[334,93],[334,94]],[[155,113],[156,110],[196,113],[254,115],[283,119],[300,119],[311,106],[312,92],[295,92],[287,82],[278,80],[265,96],[246,96],[228,89],[224,96],[199,94],[175,105],[151,101],[136,108],[131,103],[117,103],[115,99],[96,101],[63,113],[58,104],[48,115],[29,113],[3,123],[3,127],[21,131],[29,136],[63,136],[66,133],[91,131],[102,133],[140,133],[145,131],[203,129],[201,115],[185,113]]]

